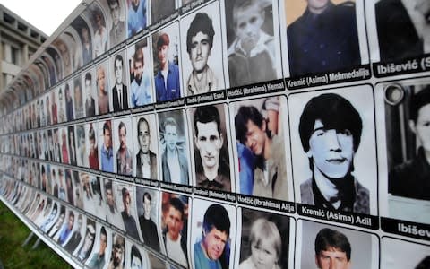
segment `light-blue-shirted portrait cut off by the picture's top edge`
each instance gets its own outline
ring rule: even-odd
[[[132,0],[128,5],[128,37],[146,28],[147,25],[147,0]]]

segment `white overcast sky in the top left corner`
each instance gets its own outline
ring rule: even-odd
[[[0,4],[48,36],[64,22],[79,3],[81,0],[0,0]]]

